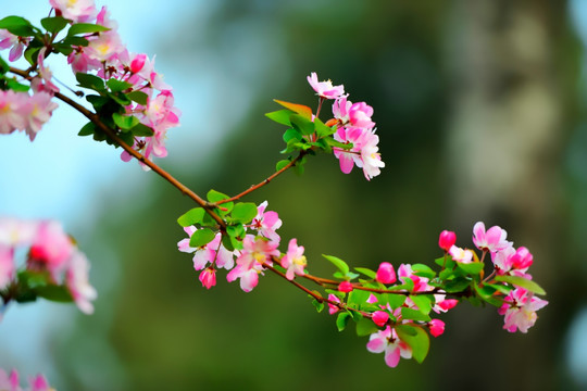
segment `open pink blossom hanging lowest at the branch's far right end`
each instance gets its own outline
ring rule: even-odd
[[[503,305],[498,310],[500,315],[504,315],[503,328],[510,332],[520,330],[526,333],[534,326],[538,315],[536,311],[546,306],[548,302],[535,298],[532,292],[524,288],[512,290],[503,300]]]

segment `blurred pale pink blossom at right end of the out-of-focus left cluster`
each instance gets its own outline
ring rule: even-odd
[[[93,313],[91,301],[98,298],[96,289],[89,283],[89,262],[82,252],[75,250],[65,272],[65,285],[72,293],[77,307],[85,314]]]

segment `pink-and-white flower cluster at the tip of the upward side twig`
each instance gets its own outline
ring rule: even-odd
[[[377,143],[379,137],[375,135],[375,123],[371,119],[373,108],[365,102],[352,103],[347,100],[345,87],[333,86],[332,81],[319,81],[313,72],[308,76],[308,83],[319,94],[321,102],[325,99],[334,100],[334,118],[327,125],[335,126],[334,139],[344,144],[352,144],[350,149],[334,148],[334,154],[340,163],[340,169],[349,174],[357,165],[363,168],[365,178],[370,180],[380,174],[385,167]]]

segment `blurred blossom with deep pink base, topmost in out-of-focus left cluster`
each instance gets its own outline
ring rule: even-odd
[[[47,220],[38,225],[30,247],[29,266],[47,267],[53,279],[70,263],[74,244],[59,222]]]

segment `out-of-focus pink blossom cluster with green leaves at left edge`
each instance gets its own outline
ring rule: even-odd
[[[26,263],[17,272],[15,254],[27,248]],[[62,298],[68,295],[82,312],[91,314],[97,292],[88,272],[88,260],[60,223],[0,217],[0,297],[4,303],[20,301],[23,294],[53,299],[62,288]]]

